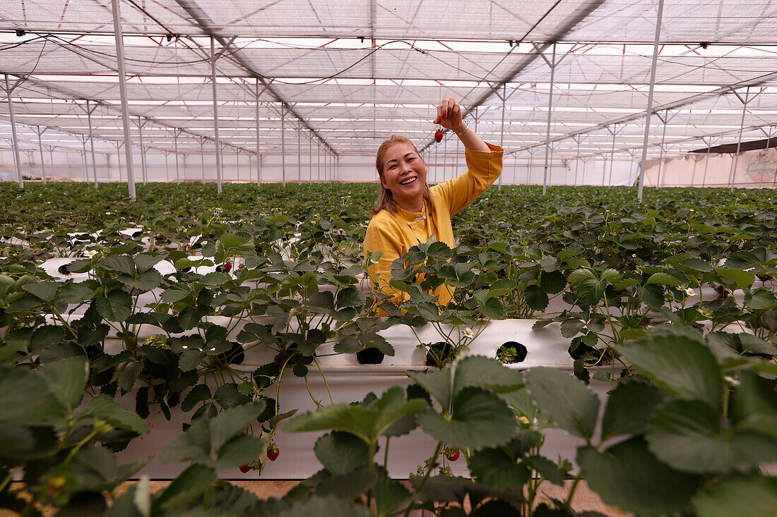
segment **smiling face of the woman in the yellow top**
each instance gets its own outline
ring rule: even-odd
[[[427,165],[412,145],[399,142],[385,151],[381,183],[385,189],[391,190],[400,208],[409,212],[423,210]]]

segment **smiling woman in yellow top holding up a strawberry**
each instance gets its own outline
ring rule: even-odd
[[[451,97],[437,106],[434,123],[452,130],[465,147],[467,172],[447,182],[427,186],[427,164],[416,146],[405,137],[392,136],[378,148],[375,166],[381,181],[378,206],[364,238],[364,256],[383,252],[368,266],[373,289],[392,297],[395,304],[407,294],[389,286],[391,263],[414,245],[427,242],[432,235],[453,248],[451,216],[476,200],[501,174],[501,147],[486,144],[462,120],[462,108]],[[437,303],[445,307],[453,290],[440,286]]]

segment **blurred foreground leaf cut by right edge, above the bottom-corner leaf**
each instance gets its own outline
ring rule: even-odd
[[[740,373],[740,385],[731,401],[735,429],[751,429],[777,439],[777,391],[775,381],[751,371]]]

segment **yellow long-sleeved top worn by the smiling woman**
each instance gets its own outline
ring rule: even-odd
[[[490,152],[465,148],[467,172],[430,188],[434,200],[433,213],[427,213],[424,203],[423,212],[408,212],[398,207],[396,214],[381,210],[372,217],[364,238],[364,255],[383,252],[378,263],[368,267],[373,290],[388,294],[399,305],[409,295],[389,286],[391,263],[405,255],[409,248],[427,242],[432,235],[451,248],[455,246],[451,216],[476,200],[502,173],[503,149],[498,145],[487,145]],[[423,213],[427,213],[427,218],[416,220]],[[445,307],[453,296],[453,288],[442,285],[434,294],[440,296],[437,303]]]

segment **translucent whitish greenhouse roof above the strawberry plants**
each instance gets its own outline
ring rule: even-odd
[[[16,85],[22,147],[37,149],[37,132],[47,128],[44,146],[81,149],[91,123],[96,150],[116,152],[124,137],[111,2],[0,2],[0,74]],[[305,152],[337,155],[372,155],[391,134],[428,146],[434,105],[453,96],[486,140],[532,154],[545,146],[556,62],[554,155],[635,154],[657,5],[121,0],[133,142],[140,126],[145,147],[213,152],[214,36],[218,136],[232,151],[255,153],[257,136],[262,154],[296,153],[298,138]],[[665,2],[651,154],[662,142],[668,155],[730,144],[740,126],[744,140],[771,134],[775,14],[777,6],[762,0]],[[7,148],[5,101],[3,82],[0,147]]]

